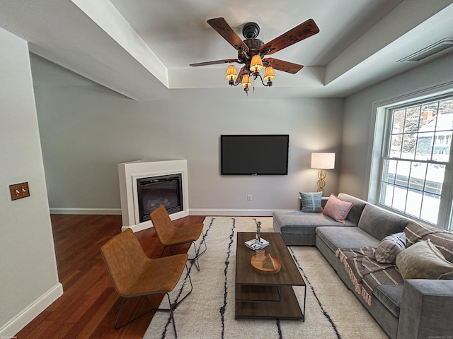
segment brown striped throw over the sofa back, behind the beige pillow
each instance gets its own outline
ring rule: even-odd
[[[453,232],[410,220],[404,229],[407,246],[430,239],[449,262],[453,262]]]

